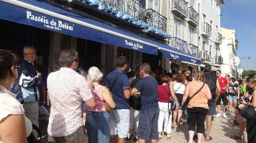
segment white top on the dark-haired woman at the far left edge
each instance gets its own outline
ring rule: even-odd
[[[24,109],[15,97],[15,94],[9,92],[9,90],[0,85],[0,122],[8,115],[24,115]],[[25,122],[28,137],[32,132],[32,123],[26,116]],[[1,136],[0,142],[2,142]]]

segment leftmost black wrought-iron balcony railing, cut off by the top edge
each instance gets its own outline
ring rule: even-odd
[[[144,14],[146,6],[139,0],[100,0],[99,3],[106,3],[106,5],[116,8],[124,14],[133,16],[138,20],[144,21]]]

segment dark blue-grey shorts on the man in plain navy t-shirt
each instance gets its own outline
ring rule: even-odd
[[[139,112],[138,138],[143,140],[158,139],[159,109],[141,110]]]

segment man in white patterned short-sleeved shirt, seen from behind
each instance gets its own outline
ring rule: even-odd
[[[75,50],[67,49],[60,54],[60,70],[49,73],[47,89],[51,101],[48,124],[49,142],[88,142],[82,123],[82,101],[94,107],[92,80],[76,72],[79,57]]]

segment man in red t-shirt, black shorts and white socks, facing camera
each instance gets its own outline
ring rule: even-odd
[[[223,102],[223,118],[227,118],[226,116],[226,106],[228,105],[228,98],[226,97],[227,96],[227,93],[226,93],[226,89],[229,87],[229,83],[228,83],[228,80],[225,78],[225,77],[221,77],[221,71],[220,70],[217,70],[216,71],[216,76],[218,77],[218,81],[220,83],[220,87],[221,87],[221,94],[220,94],[220,97],[216,97],[216,105],[217,105],[217,109],[218,109],[218,114],[216,115],[216,117],[220,117],[221,114],[220,114],[220,103],[221,103],[221,100]]]

